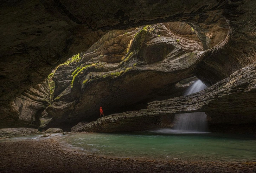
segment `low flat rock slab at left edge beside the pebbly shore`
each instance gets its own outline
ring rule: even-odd
[[[28,135],[34,135],[34,134],[43,134],[43,133],[38,131],[37,129],[30,129],[30,128],[0,129],[0,139],[12,138],[17,136],[28,136]]]

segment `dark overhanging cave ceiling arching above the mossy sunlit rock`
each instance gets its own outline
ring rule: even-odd
[[[16,97],[43,82],[54,67],[85,52],[113,29],[171,21],[190,24],[205,50],[196,57],[201,60],[196,76],[208,86],[215,84],[255,62],[255,6],[252,0],[209,0],[207,4],[201,0],[2,1],[1,118],[11,124],[17,119],[13,102]],[[209,33],[216,29],[228,29],[228,35],[214,46],[218,39],[209,43],[213,39]],[[184,47],[185,41],[179,40]]]

